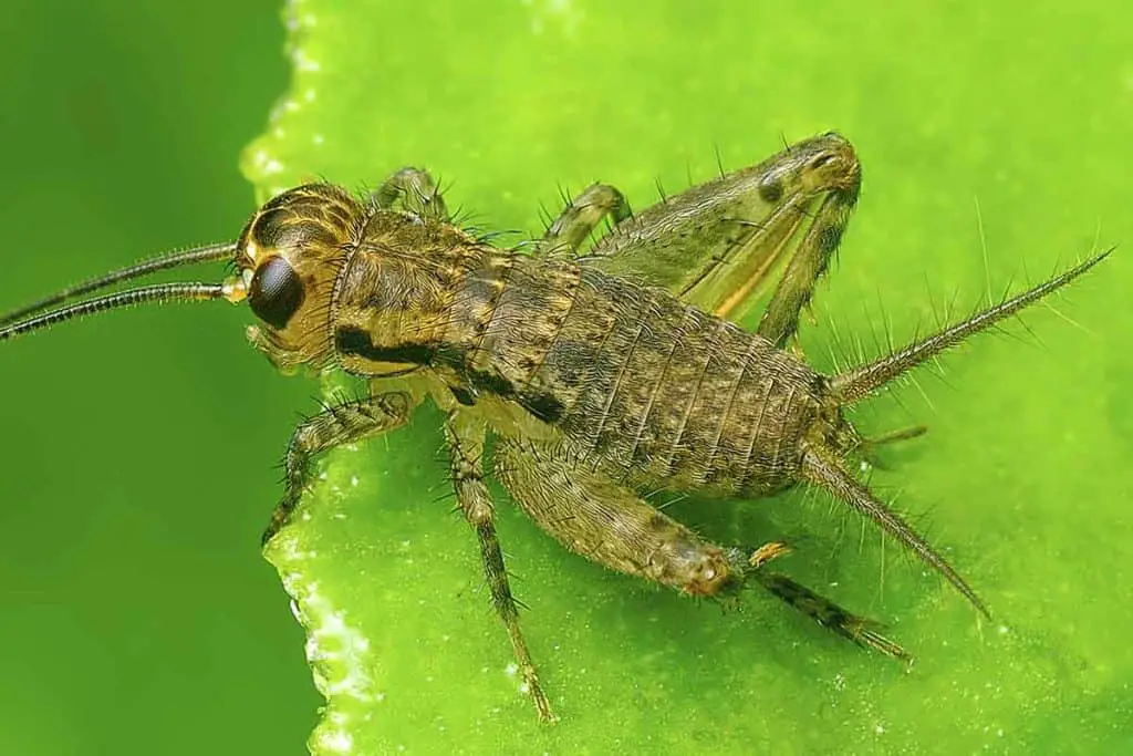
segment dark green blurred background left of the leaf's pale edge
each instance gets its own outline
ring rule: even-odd
[[[3,15],[0,311],[239,230],[237,156],[288,77],[276,2]],[[314,389],[246,320],[118,313],[0,349],[0,753],[303,753],[320,698],[257,543]]]

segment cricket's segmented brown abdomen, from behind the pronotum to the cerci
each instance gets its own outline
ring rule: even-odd
[[[517,401],[590,464],[670,489],[790,485],[820,390],[766,339],[662,290],[530,258],[513,258],[460,357],[472,390]]]

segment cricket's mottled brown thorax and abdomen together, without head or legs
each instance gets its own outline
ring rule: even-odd
[[[378,215],[335,300],[342,366],[427,366],[461,404],[518,405],[640,485],[761,493],[796,478],[819,377],[661,289]]]

